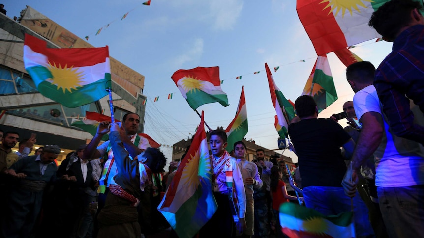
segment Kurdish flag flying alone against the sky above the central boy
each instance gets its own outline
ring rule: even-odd
[[[193,110],[203,104],[215,102],[228,106],[227,94],[221,89],[218,66],[180,69],[171,78]]]

